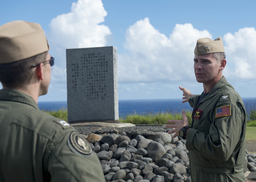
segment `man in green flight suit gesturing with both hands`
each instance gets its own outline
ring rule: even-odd
[[[192,124],[182,111],[183,120],[167,121],[173,128],[168,133],[186,139],[191,181],[244,182],[247,116],[241,97],[222,76],[227,61],[221,37],[198,39],[194,53],[196,80],[204,92],[193,95],[179,87],[182,102],[194,108]]]

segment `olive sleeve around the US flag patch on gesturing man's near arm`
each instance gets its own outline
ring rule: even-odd
[[[217,107],[230,106],[230,115],[216,117],[210,125],[209,134],[199,132],[191,128],[187,135],[186,147],[188,150],[196,150],[204,157],[227,161],[231,155],[236,154],[240,149],[238,142],[242,142],[246,129],[246,115],[241,112],[238,106],[232,103],[225,103]]]

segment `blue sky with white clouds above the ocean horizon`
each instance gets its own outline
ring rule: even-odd
[[[41,24],[55,57],[48,94],[66,101],[66,49],[116,46],[119,99],[182,98],[178,86],[203,91],[193,70],[202,37],[222,37],[223,75],[241,97],[256,97],[254,1],[0,1],[0,25],[14,20]]]

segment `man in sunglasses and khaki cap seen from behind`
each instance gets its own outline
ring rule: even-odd
[[[54,64],[49,49],[37,23],[0,26],[0,181],[103,182],[86,138],[38,108]]]

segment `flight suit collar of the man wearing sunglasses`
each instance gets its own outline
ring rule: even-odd
[[[0,100],[21,102],[39,109],[36,101],[29,95],[16,89],[3,88],[0,90]]]

